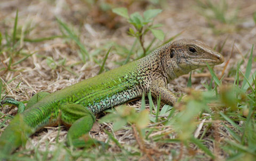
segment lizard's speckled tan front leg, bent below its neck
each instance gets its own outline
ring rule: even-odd
[[[177,97],[168,90],[166,80],[162,77],[153,80],[150,90],[155,98],[161,95],[161,101],[166,104],[173,105],[178,100]]]

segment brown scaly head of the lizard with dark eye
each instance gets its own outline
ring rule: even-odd
[[[180,39],[166,46],[164,70],[169,79],[188,74],[197,68],[219,65],[223,56],[195,39]],[[167,57],[167,58],[166,58]],[[169,57],[169,58],[168,58]]]

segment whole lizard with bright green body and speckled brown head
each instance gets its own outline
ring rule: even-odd
[[[122,67],[107,71],[52,94],[39,92],[27,103],[4,99],[2,104],[18,106],[18,115],[0,137],[0,151],[11,154],[27,138],[44,126],[65,125],[67,138],[76,145],[91,130],[94,114],[138,98],[149,90],[161,95],[166,104],[177,102],[167,83],[189,71],[219,65],[223,56],[209,46],[191,39],[180,39],[159,47],[149,55]],[[26,109],[26,110],[25,110]]]

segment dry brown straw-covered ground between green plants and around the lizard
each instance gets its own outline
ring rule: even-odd
[[[99,1],[97,4],[99,4]],[[228,0],[227,17],[230,18],[234,15],[234,11],[239,8],[237,18],[234,22],[221,23],[218,20],[211,19],[211,23],[215,26],[212,29],[209,25],[209,21],[198,13],[197,3],[194,1],[161,1],[160,4],[154,5],[148,1],[134,2],[131,4],[121,3],[118,1],[110,1],[113,6],[126,6],[129,8],[129,13],[134,11],[143,12],[147,8],[162,8],[163,12],[159,14],[155,23],[162,23],[161,29],[164,31],[165,39],[168,39],[181,31],[183,33],[177,38],[196,38],[214,47],[217,45],[217,49],[225,42],[222,54],[226,60],[229,59],[233,44],[235,48],[233,55],[231,55],[230,62],[225,70],[225,81],[227,83],[232,81],[233,78],[228,76],[229,71],[236,68],[236,63],[244,59],[246,53],[248,53],[252,47],[252,44],[256,42],[256,27],[253,21],[252,14],[256,11],[256,1],[232,1]],[[215,2],[215,1],[214,1]],[[217,1],[219,2],[219,1]],[[50,37],[53,35],[62,35],[60,27],[55,20],[55,17],[67,22],[75,33],[79,35],[81,42],[85,45],[89,53],[100,50],[100,54],[95,56],[96,59],[102,60],[107,50],[111,46],[111,43],[126,46],[131,49],[134,41],[133,37],[126,34],[130,25],[121,17],[116,17],[111,12],[106,13],[98,11],[97,6],[87,5],[86,1],[71,1],[71,0],[59,0],[59,1],[19,1],[19,0],[2,0],[0,2],[0,31],[4,35],[5,31],[11,34],[14,24],[15,12],[19,10],[18,30],[20,37],[24,36],[26,30],[31,30],[26,38],[35,39],[42,37]],[[202,10],[201,10],[202,11]],[[204,14],[210,13],[205,11]],[[145,44],[148,44],[153,35],[145,37]],[[3,39],[2,44],[6,41]],[[6,91],[11,91],[7,96],[13,97],[17,100],[28,100],[31,95],[38,91],[54,92],[60,90],[63,87],[77,83],[83,79],[97,75],[100,67],[93,60],[84,63],[77,63],[71,69],[77,74],[71,74],[63,66],[58,66],[57,69],[51,69],[47,66],[46,57],[52,57],[55,61],[66,59],[66,65],[72,65],[81,61],[79,59],[77,51],[78,47],[74,42],[70,42],[64,38],[55,38],[49,41],[30,43],[21,42],[23,53],[34,53],[27,60],[21,62],[17,66],[13,66],[15,71],[0,71],[1,79],[4,83],[9,82],[16,77],[14,81],[9,84],[5,84]],[[138,47],[139,49],[139,47]],[[255,47],[254,47],[255,49]],[[21,53],[22,53],[21,52]],[[106,67],[113,69],[118,67],[114,61],[124,60],[124,58],[118,54],[117,49],[113,49],[110,52]],[[254,52],[255,53],[255,52]],[[253,55],[253,58],[255,55]],[[15,61],[18,61],[21,57],[14,57]],[[8,55],[6,52],[0,53],[0,68],[4,68],[9,63]],[[15,62],[14,61],[14,62]],[[247,61],[247,59],[245,59]],[[246,64],[245,64],[246,65]],[[246,66],[242,65],[241,69],[245,71]],[[214,68],[215,73],[221,75],[222,69],[225,63]],[[255,63],[253,63],[253,71],[255,71]],[[207,71],[206,71],[207,73]],[[197,90],[204,90],[201,83],[209,81],[209,75],[206,77],[193,77],[193,88]],[[15,87],[19,85],[19,88]],[[184,88],[187,84],[187,76],[175,79],[170,88],[176,93],[185,93]],[[140,107],[140,102],[131,103],[134,107]],[[130,105],[131,105],[130,104]],[[5,114],[15,114],[16,109],[0,109]],[[0,118],[1,120],[1,118]],[[216,123],[218,124],[218,123]],[[97,133],[91,133],[93,138],[98,140],[108,139],[108,135],[103,131],[104,129],[111,131],[110,124],[102,124],[95,126]],[[2,131],[2,130],[1,130]],[[65,128],[61,128],[60,141],[65,140],[67,131]],[[161,131],[159,131],[161,133]],[[33,135],[30,142],[27,143],[27,148],[31,147],[31,144],[39,144],[41,150],[45,149],[45,142],[50,143],[55,141],[58,135],[57,128],[47,128],[42,132]],[[129,130],[122,130],[115,132],[115,136],[120,143],[133,145],[135,141],[132,128]],[[154,148],[154,144],[146,142],[149,147]],[[107,152],[115,153],[120,152],[116,146],[111,147]],[[179,144],[166,144],[162,147],[158,147],[159,151],[169,153],[170,149],[179,149]],[[212,143],[209,143],[210,149],[214,149]],[[54,145],[50,146],[50,149],[54,149]],[[220,155],[220,158],[225,155]],[[159,157],[158,159],[164,160]],[[169,158],[170,159],[170,158]],[[165,160],[169,160],[165,158]]]

